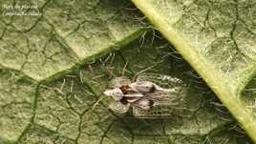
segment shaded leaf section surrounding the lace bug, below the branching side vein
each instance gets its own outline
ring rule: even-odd
[[[5,76],[0,77],[3,90],[7,90],[7,84],[3,81],[10,83],[11,79],[13,82],[9,85],[12,87],[25,84],[26,87],[17,89],[15,94],[15,91],[11,93],[14,89],[12,87],[9,93],[1,91],[1,95],[4,96],[1,103],[7,103],[7,97],[10,95],[13,97],[13,106],[16,106],[15,101],[18,99],[26,99],[30,103],[28,102],[27,107],[13,107],[12,111],[2,113],[13,117],[3,117],[1,120],[3,123],[11,122],[15,129],[9,125],[2,125],[0,128],[6,131],[0,131],[4,132],[0,139],[9,141],[20,135],[17,143],[81,144],[198,144],[224,141],[237,144],[248,141],[244,134],[236,130],[235,121],[226,113],[214,93],[206,87],[196,72],[181,59],[181,55],[169,51],[171,47],[162,40],[155,40],[152,44],[150,37],[146,39],[142,47],[136,42],[121,51],[100,58],[96,63],[44,83],[33,83],[26,76],[12,74],[12,71],[3,69],[1,75]],[[129,62],[126,75],[133,75],[155,66],[149,72],[181,78],[184,83],[183,89],[187,90],[184,97],[185,107],[189,111],[174,115],[171,119],[138,119],[132,113],[120,116],[109,111],[109,99],[102,100],[92,111],[92,106],[100,93],[107,88],[108,81],[114,74],[121,75],[126,62]],[[33,90],[32,98],[28,97],[26,90]],[[22,91],[26,93],[21,93]],[[28,119],[23,119],[24,114],[17,114],[25,113],[27,109],[31,110],[26,114]],[[25,122],[21,123],[20,119]],[[17,134],[12,134],[13,132]]]

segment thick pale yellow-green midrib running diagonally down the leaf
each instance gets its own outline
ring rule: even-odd
[[[199,54],[199,52],[193,51],[196,49],[192,49],[193,46],[189,45],[189,41],[181,37],[150,5],[147,5],[142,0],[132,1],[159,29],[163,36],[181,52],[184,59],[203,77],[212,91],[224,103],[224,106],[228,108],[229,112],[243,125],[247,134],[256,142],[256,129],[254,129],[256,128],[256,121],[253,121],[253,115],[246,113],[243,104],[236,99],[240,95],[235,95],[234,92],[229,91],[231,90],[228,87],[229,79],[226,77],[223,78],[221,73],[216,71],[216,68],[205,57]]]

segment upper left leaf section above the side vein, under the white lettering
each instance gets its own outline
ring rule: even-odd
[[[1,1],[1,6],[35,5],[42,15],[8,16],[1,7],[0,65],[45,80],[118,49],[139,36],[142,27],[119,1]],[[51,78],[50,78],[51,79]]]

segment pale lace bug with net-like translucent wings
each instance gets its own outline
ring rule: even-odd
[[[117,79],[124,82],[128,78]],[[117,79],[114,79],[116,85],[112,86],[113,89],[104,92],[113,97],[109,108],[115,113],[127,113],[132,107],[137,117],[157,118],[171,116],[174,110],[182,109],[182,81],[178,78],[148,73],[124,84],[118,83]]]

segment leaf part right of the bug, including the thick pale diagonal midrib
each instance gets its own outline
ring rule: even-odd
[[[255,1],[132,1],[256,142]]]

